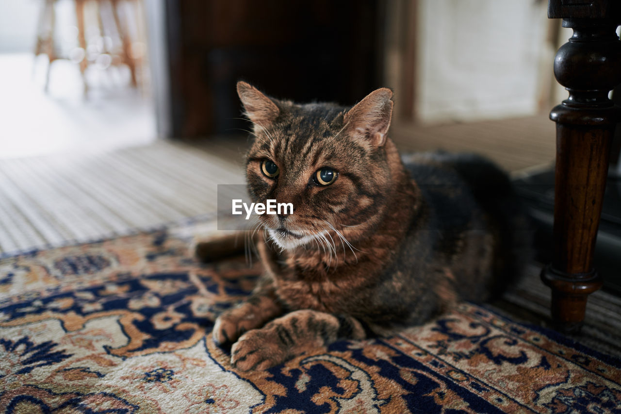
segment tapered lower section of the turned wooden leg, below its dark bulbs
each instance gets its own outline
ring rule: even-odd
[[[602,286],[593,254],[602,211],[611,129],[556,126],[553,262],[543,274],[552,288],[552,318],[578,331],[587,296]]]

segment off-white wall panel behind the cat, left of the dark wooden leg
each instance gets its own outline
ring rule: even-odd
[[[537,113],[542,58],[550,58],[546,3],[419,0],[417,118],[473,121]],[[547,63],[551,71],[552,60]]]

